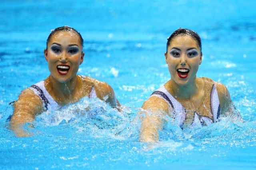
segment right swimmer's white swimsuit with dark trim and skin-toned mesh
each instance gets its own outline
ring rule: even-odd
[[[192,126],[210,125],[218,121],[220,117],[220,102],[218,99],[218,93],[216,86],[211,79],[202,78],[204,80],[204,99],[190,114],[193,116]],[[175,122],[183,127],[186,119],[188,118],[188,112],[166,89],[164,86],[160,87],[150,95],[150,97],[156,96],[164,99],[166,103],[172,108],[171,116],[174,117]],[[191,116],[190,116],[191,117]],[[191,123],[191,121],[190,121]]]

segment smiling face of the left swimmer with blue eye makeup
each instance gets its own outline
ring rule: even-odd
[[[60,83],[76,77],[79,65],[84,60],[82,45],[74,32],[56,32],[48,42],[44,56],[50,73]]]

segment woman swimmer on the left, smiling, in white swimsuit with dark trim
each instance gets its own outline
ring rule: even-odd
[[[63,26],[52,30],[46,41],[44,57],[50,76],[23,90],[14,103],[10,119],[17,136],[26,136],[19,125],[32,122],[43,111],[54,111],[82,97],[98,97],[112,107],[119,107],[113,89],[105,82],[77,75],[84,61],[83,38],[74,28]]]

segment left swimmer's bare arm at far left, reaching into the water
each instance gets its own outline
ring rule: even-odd
[[[30,89],[22,91],[18,100],[14,103],[14,112],[10,120],[10,128],[17,136],[28,136],[22,129],[21,125],[34,121],[35,116],[42,113],[42,101],[38,95]]]

